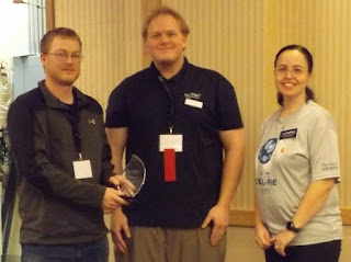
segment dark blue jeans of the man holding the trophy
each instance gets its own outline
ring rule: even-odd
[[[109,241],[77,244],[22,244],[22,262],[107,262]]]

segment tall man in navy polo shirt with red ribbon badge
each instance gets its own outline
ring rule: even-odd
[[[146,20],[149,68],[113,90],[106,130],[115,172],[137,155],[146,183],[112,215],[118,262],[224,261],[229,208],[244,167],[233,86],[184,57],[189,27],[162,7]],[[223,155],[224,152],[224,155]]]

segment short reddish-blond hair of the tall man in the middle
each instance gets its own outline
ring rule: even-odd
[[[154,10],[145,20],[144,25],[143,25],[143,31],[141,31],[144,39],[147,37],[147,29],[148,29],[149,24],[151,23],[151,21],[162,14],[169,14],[169,15],[173,16],[177,20],[182,34],[184,36],[189,35],[190,30],[189,30],[189,26],[188,26],[185,20],[183,19],[183,16],[180,15],[180,13],[178,13],[176,10],[173,10],[169,7],[162,5],[156,10]]]

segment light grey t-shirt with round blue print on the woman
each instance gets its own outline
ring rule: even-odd
[[[261,127],[256,158],[256,187],[263,223],[272,235],[292,220],[312,182],[340,182],[339,149],[332,116],[309,100],[281,118],[280,110]],[[342,238],[339,198],[335,185],[324,207],[297,233],[291,246]]]

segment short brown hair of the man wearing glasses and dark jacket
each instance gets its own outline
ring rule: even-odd
[[[50,45],[56,36],[77,39],[80,48],[82,46],[81,39],[79,35],[76,33],[76,31],[68,27],[57,27],[46,32],[46,34],[43,36],[41,41],[41,53],[48,53]]]

